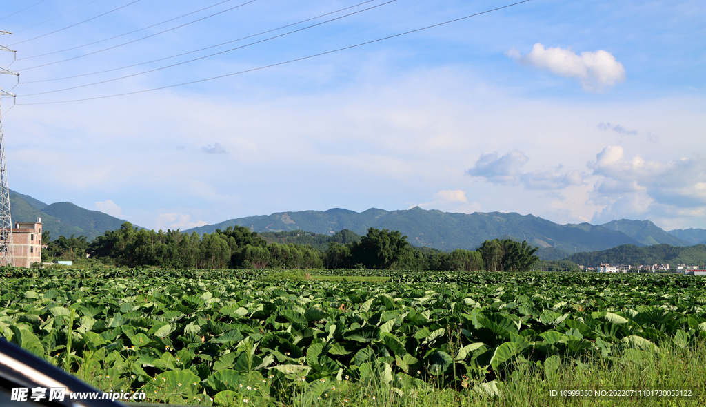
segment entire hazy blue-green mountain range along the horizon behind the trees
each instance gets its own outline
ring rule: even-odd
[[[71,202],[51,205],[10,192],[13,221],[35,221],[42,218],[44,230],[52,238],[86,236],[91,241],[108,230],[119,229],[125,221],[98,211],[78,207]],[[602,225],[556,224],[535,217],[503,212],[475,212],[472,214],[449,213],[413,207],[406,210],[386,211],[371,208],[364,212],[348,209],[328,211],[278,212],[230,219],[218,224],[199,226],[186,232],[213,233],[228,226],[246,226],[253,231],[309,231],[328,236],[342,229],[364,235],[370,227],[397,230],[405,234],[409,243],[416,246],[453,250],[473,250],[486,240],[510,238],[527,240],[539,246],[544,260],[558,260],[578,252],[593,252],[618,245],[650,246],[668,244],[689,246],[706,244],[706,229],[676,229],[664,231],[652,221],[620,219]]]

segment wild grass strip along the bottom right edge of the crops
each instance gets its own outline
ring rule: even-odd
[[[318,380],[307,384],[299,377],[280,383],[272,407],[666,407],[706,403],[706,343],[688,348],[663,346],[659,353],[626,352],[611,359],[569,358],[556,368],[537,363],[515,363],[503,382],[467,379],[460,390],[431,380],[426,387],[404,387],[381,377],[363,381],[343,378],[335,387],[316,393]],[[611,390],[690,391],[691,396],[609,396]],[[551,391],[606,391],[605,396],[550,396]],[[260,406],[235,396],[222,406]],[[136,404],[127,403],[128,406]],[[141,404],[147,406],[147,404]],[[265,406],[265,403],[262,403]]]

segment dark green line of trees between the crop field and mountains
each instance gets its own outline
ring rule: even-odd
[[[48,241],[48,234],[47,240]],[[478,250],[450,253],[416,248],[399,231],[368,229],[358,236],[344,229],[333,235],[325,250],[312,245],[268,243],[244,226],[204,233],[179,230],[148,231],[125,222],[88,243],[85,236],[51,241],[42,257],[100,261],[117,266],[157,266],[196,269],[366,268],[409,270],[527,271],[539,257],[537,248],[510,239],[485,241]],[[85,260],[90,257],[89,260]]]

